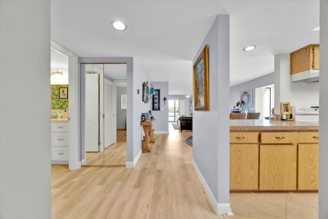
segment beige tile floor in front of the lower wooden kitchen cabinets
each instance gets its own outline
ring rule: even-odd
[[[229,218],[318,218],[317,192],[230,192]]]

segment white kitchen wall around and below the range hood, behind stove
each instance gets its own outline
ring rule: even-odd
[[[321,63],[320,75],[322,75]],[[319,83],[291,82],[290,54],[279,54],[275,56],[274,84],[275,114],[280,114],[280,102],[290,102],[291,106],[295,104],[318,105],[319,103]]]

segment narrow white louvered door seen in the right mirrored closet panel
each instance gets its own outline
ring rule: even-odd
[[[114,129],[113,82],[105,78],[105,148],[115,143],[116,129]]]

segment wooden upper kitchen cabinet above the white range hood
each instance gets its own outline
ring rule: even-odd
[[[319,69],[319,44],[310,44],[291,53],[291,74]]]

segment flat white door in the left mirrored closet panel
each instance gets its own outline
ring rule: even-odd
[[[99,151],[99,74],[86,74],[85,151]]]

